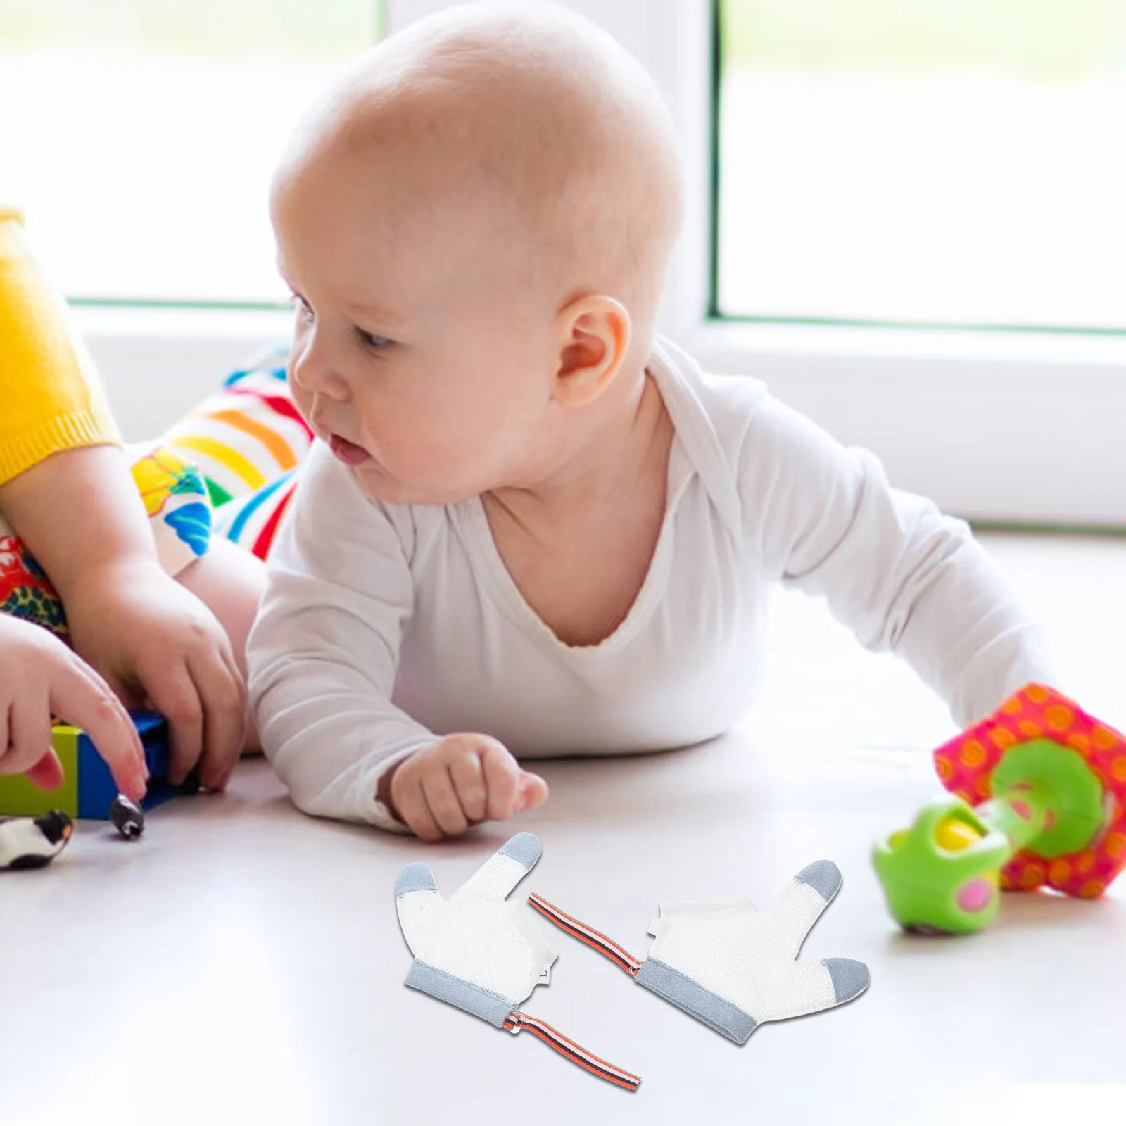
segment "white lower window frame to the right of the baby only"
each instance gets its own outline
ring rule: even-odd
[[[739,322],[683,333],[977,520],[1126,526],[1126,338]]]

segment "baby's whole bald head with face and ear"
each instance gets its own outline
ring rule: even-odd
[[[393,36],[306,117],[270,205],[294,400],[372,495],[546,488],[628,432],[680,172],[652,81],[590,24],[473,3]]]

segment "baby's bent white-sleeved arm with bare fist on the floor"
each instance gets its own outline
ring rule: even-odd
[[[412,540],[408,511],[367,498],[316,444],[270,552],[248,663],[262,748],[298,808],[432,840],[531,808],[546,787],[488,735],[438,736],[391,701]]]

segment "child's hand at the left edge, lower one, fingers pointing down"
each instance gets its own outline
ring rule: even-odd
[[[42,789],[61,785],[52,716],[82,727],[118,789],[135,802],[144,797],[141,740],[109,686],[42,626],[0,615],[0,774],[26,774]]]

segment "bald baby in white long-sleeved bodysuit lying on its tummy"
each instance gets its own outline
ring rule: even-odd
[[[656,334],[680,176],[642,68],[546,5],[413,25],[294,136],[271,214],[321,440],[249,668],[302,810],[435,840],[539,805],[518,758],[717,735],[778,581],[960,724],[1051,681],[964,524]]]

